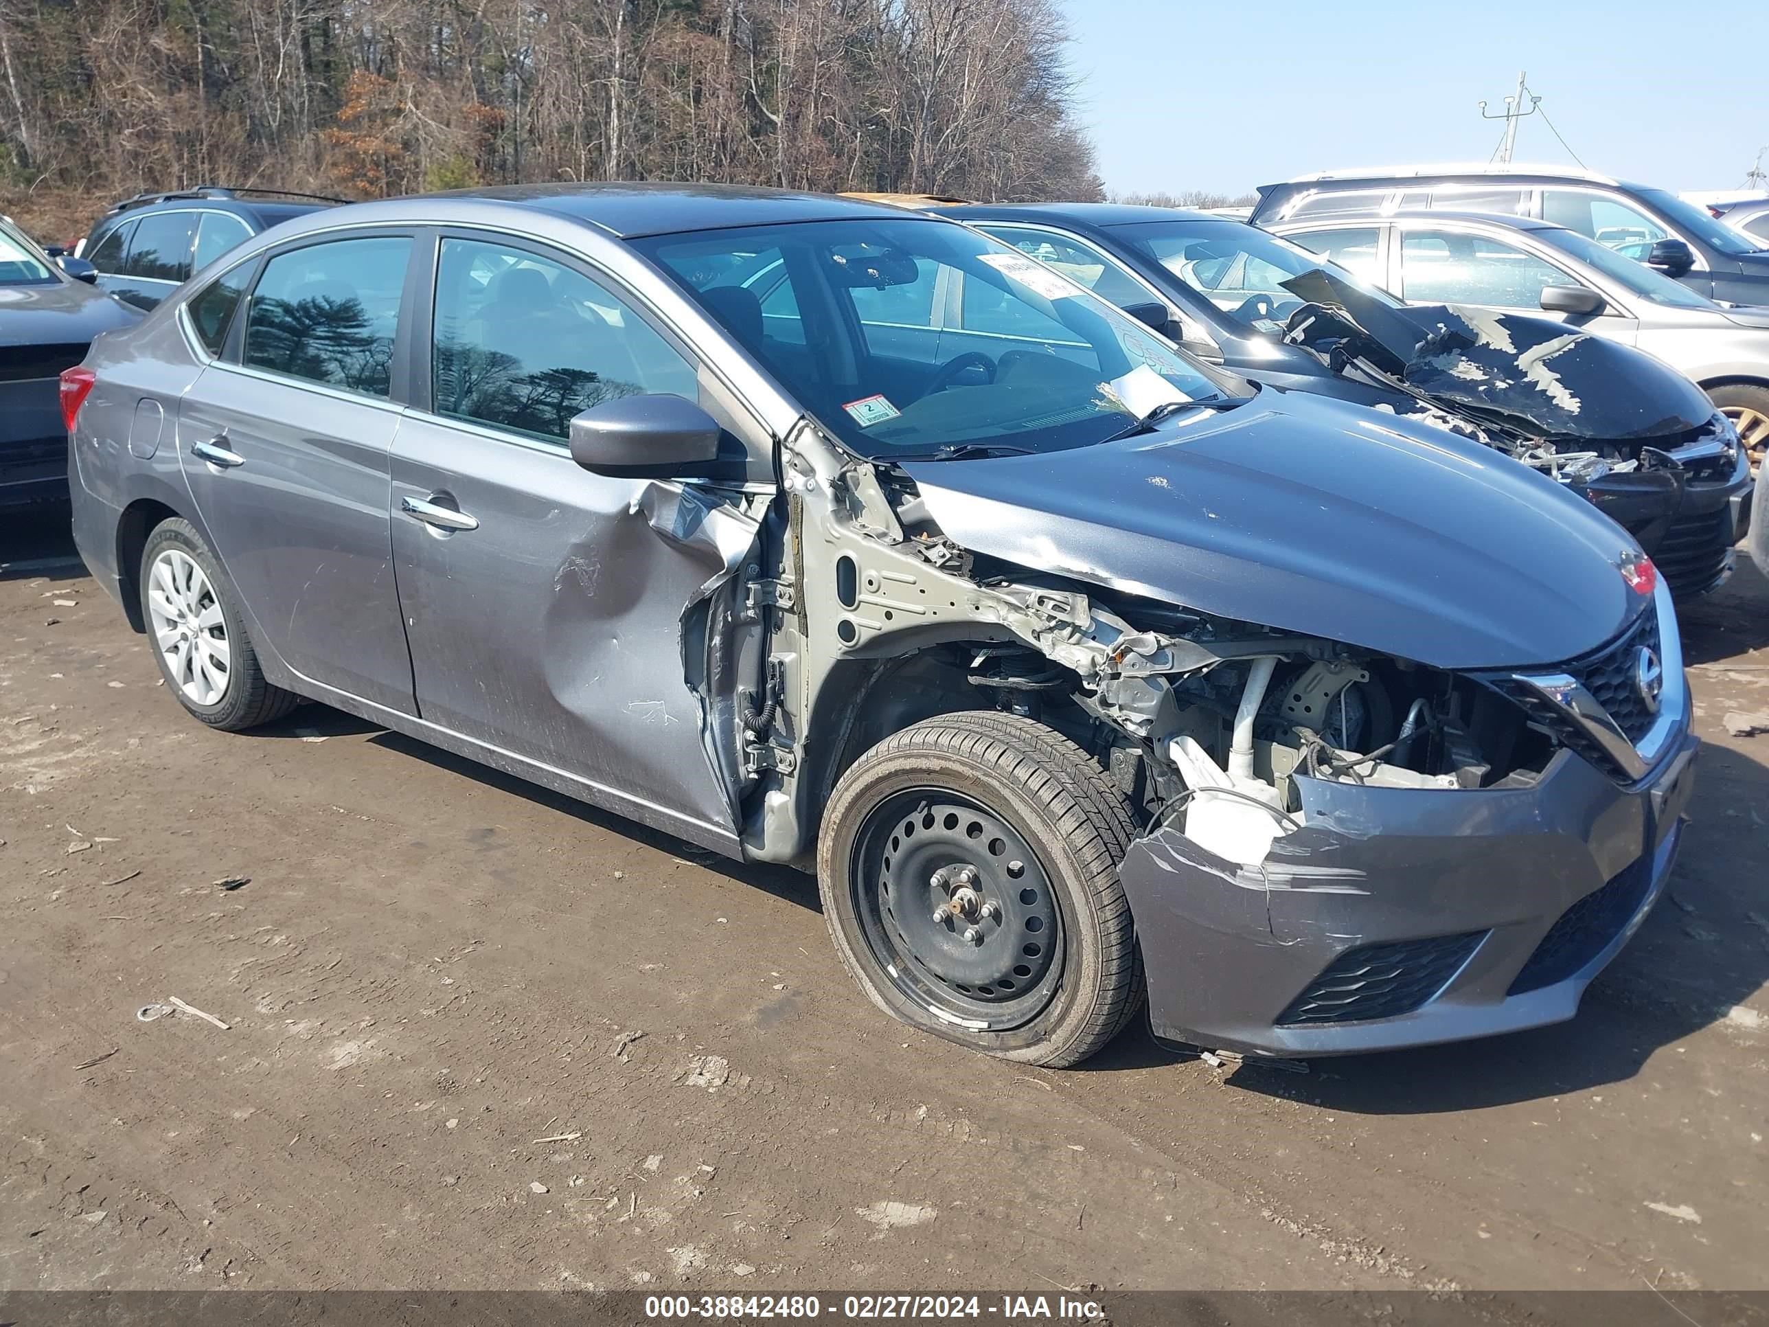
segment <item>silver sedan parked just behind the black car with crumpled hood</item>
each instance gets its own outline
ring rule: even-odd
[[[1769,308],[1721,308],[1550,221],[1456,212],[1364,214],[1274,230],[1413,304],[1562,318],[1658,356],[1732,419],[1757,469],[1769,446]]]

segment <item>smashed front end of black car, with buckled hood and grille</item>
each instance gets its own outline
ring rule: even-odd
[[[1394,308],[1320,269],[1284,287],[1306,301],[1288,343],[1406,398],[1399,412],[1567,485],[1649,554],[1663,548],[1679,598],[1725,579],[1735,531],[1719,517],[1744,458],[1730,423],[1681,373],[1550,318]]]

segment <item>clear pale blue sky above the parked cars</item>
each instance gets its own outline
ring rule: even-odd
[[[1514,161],[1730,189],[1769,147],[1765,0],[1060,0],[1113,193],[1249,193],[1336,166]],[[1734,51],[1741,58],[1727,57]],[[1548,126],[1560,131],[1562,147]],[[1769,170],[1769,152],[1764,154]]]

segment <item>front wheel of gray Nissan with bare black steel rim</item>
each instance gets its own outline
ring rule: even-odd
[[[902,807],[918,798],[904,817]],[[966,805],[976,809],[969,825]],[[913,848],[904,825],[925,825]],[[999,828],[976,833],[978,825]],[[969,833],[973,856],[961,833]],[[943,715],[886,738],[837,782],[817,840],[823,915],[842,963],[886,1014],[1003,1060],[1074,1065],[1116,1037],[1143,1000],[1141,954],[1118,883],[1130,833],[1123,794],[1060,733],[1003,713]],[[1022,846],[1030,858],[1001,860],[998,844],[1015,844],[1008,856]],[[957,858],[943,856],[948,849]],[[892,871],[911,853],[920,855],[916,865],[895,878],[892,894]],[[953,867],[927,874],[930,863],[946,860],[982,872],[975,879],[985,899],[999,890],[992,917],[925,922],[929,901],[959,897],[950,886],[945,894],[932,888]],[[1021,876],[1008,881],[1012,867]],[[1047,892],[1015,890],[1040,878]],[[1014,959],[1015,945],[1047,929],[1058,931],[1060,943],[1047,950],[1022,945],[1040,954],[1033,963],[1045,964],[1010,970],[1028,973],[1024,989],[955,986],[962,973],[948,964],[971,955],[946,936],[966,922],[987,929],[984,940],[966,941],[984,968]],[[992,948],[998,943],[1003,948]]]

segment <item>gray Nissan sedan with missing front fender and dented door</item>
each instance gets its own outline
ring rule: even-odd
[[[80,548],[195,718],[310,697],[816,869],[874,1003],[978,1051],[1074,1063],[1145,994],[1272,1055],[1566,1019],[1677,849],[1620,527],[950,221],[341,207],[65,387]]]

